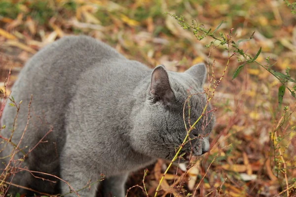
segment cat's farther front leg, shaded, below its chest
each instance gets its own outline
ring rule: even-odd
[[[128,173],[108,177],[103,181],[104,197],[125,197],[125,182]]]

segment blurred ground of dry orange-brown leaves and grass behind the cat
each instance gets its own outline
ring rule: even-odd
[[[214,39],[198,40],[169,16],[184,16],[205,29],[216,29],[217,37],[232,31],[232,40],[273,70],[285,73],[290,67],[296,78],[296,3],[291,0],[0,0],[0,89],[11,69],[9,88],[25,62],[39,49],[69,34],[85,34],[102,40],[128,59],[149,67],[159,64],[168,70],[184,71],[215,61],[215,78],[228,61],[224,46],[206,47]],[[217,44],[218,45],[218,44]],[[210,53],[211,51],[211,53]],[[230,55],[232,52],[230,52]],[[170,168],[159,197],[195,196],[273,197],[295,196],[296,188],[296,99],[286,91],[278,106],[279,80],[252,63],[231,80],[241,65],[231,58],[225,76],[211,103],[217,108],[216,127],[211,133],[211,151],[186,165]],[[288,86],[290,88],[292,85]],[[1,94],[2,98],[3,94]],[[289,117],[283,118],[284,106]],[[287,114],[286,113],[286,114]],[[283,122],[283,120],[285,122]],[[282,124],[283,122],[283,124]],[[279,127],[280,126],[280,127]],[[276,134],[275,134],[276,132]],[[230,145],[231,146],[228,146]],[[225,147],[227,146],[227,147]],[[223,148],[225,147],[225,148]],[[169,163],[159,160],[148,167],[145,185],[154,196]],[[127,188],[143,186],[144,169],[134,172]],[[140,187],[127,196],[145,196]]]

